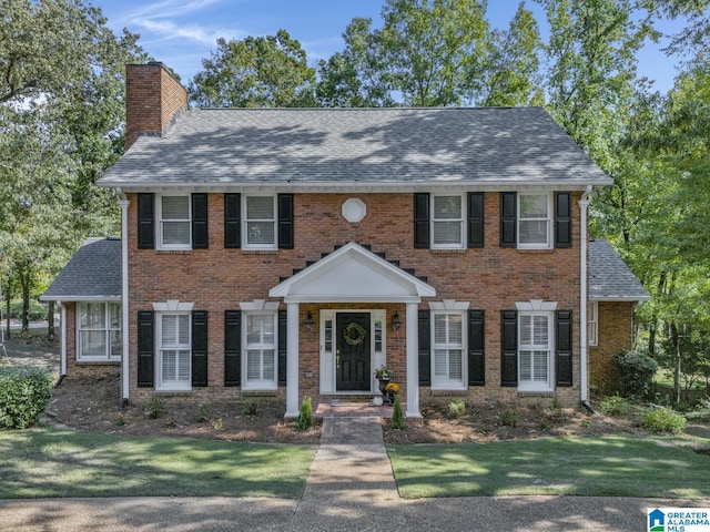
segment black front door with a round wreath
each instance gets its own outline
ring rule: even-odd
[[[335,335],[335,389],[369,391],[369,313],[338,313]]]

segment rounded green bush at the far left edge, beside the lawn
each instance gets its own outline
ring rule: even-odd
[[[45,369],[0,368],[0,428],[24,429],[39,420],[49,405],[52,376]]]

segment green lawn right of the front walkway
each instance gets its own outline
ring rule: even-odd
[[[399,494],[708,498],[710,457],[677,438],[549,438],[387,446]]]

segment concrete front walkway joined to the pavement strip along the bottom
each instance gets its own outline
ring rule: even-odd
[[[375,412],[373,412],[375,413]],[[501,457],[504,459],[505,457]],[[0,494],[1,497],[1,494]],[[399,499],[379,418],[326,417],[301,500],[121,498],[0,500],[8,531],[639,531],[647,508],[710,500],[588,497]]]

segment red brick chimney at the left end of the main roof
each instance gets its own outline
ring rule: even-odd
[[[164,135],[187,109],[187,91],[163,63],[125,66],[125,149],[143,134]]]

